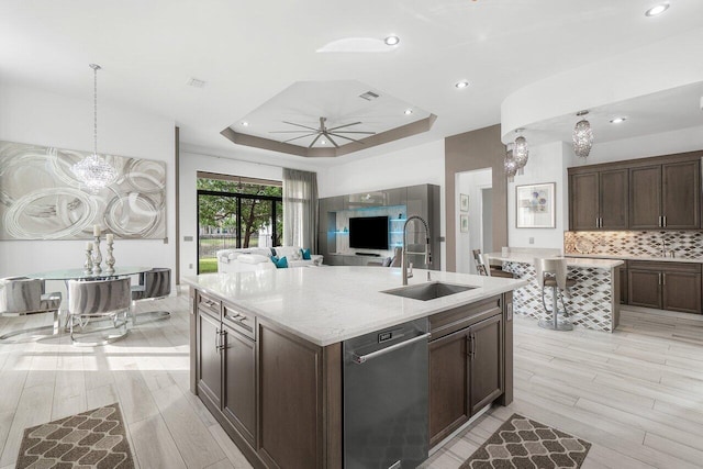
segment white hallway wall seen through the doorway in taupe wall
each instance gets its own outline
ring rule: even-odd
[[[456,205],[461,206],[459,202],[460,194],[469,196],[469,211],[455,213],[456,216],[456,239],[457,239],[457,272],[477,273],[476,263],[473,261],[473,249],[483,249],[482,246],[482,214],[483,204],[481,189],[490,188],[493,183],[493,170],[479,169],[477,171],[458,172],[456,175]],[[469,231],[461,233],[460,215],[469,215]]]

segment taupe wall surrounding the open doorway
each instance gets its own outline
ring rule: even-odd
[[[503,170],[505,145],[500,125],[445,138],[445,202],[447,271],[456,271],[455,175],[493,168],[493,248],[507,246],[507,180]]]

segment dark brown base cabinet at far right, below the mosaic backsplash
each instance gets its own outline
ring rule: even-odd
[[[628,304],[701,313],[701,265],[631,261]]]

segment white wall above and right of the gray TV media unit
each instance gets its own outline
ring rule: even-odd
[[[444,139],[371,158],[354,160],[317,172],[320,197],[344,196],[403,186],[436,185],[440,187],[439,235],[445,236]],[[431,227],[433,232],[436,227]],[[442,266],[446,266],[446,246],[442,243]]]

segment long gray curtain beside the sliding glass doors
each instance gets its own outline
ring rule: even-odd
[[[283,168],[283,246],[317,253],[317,174]]]

